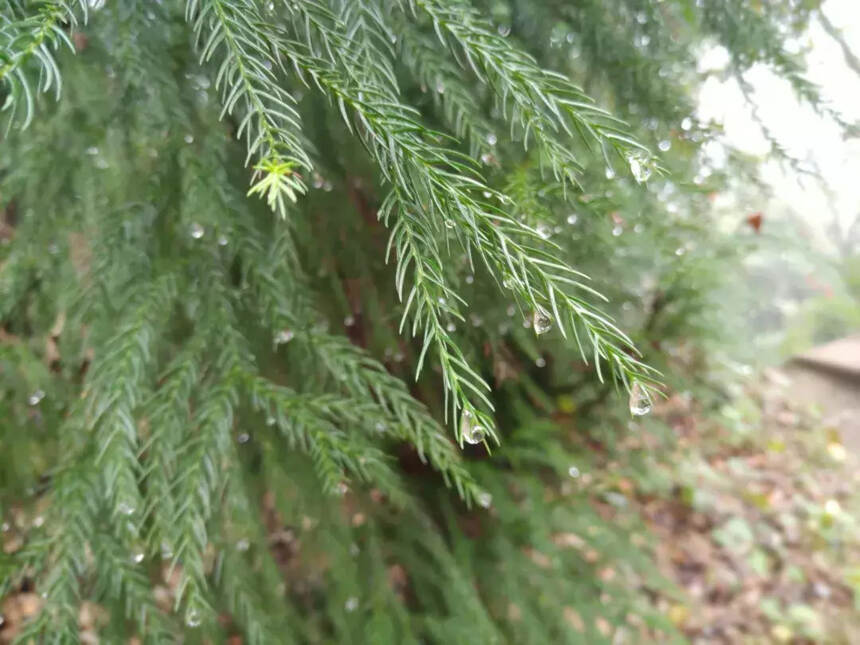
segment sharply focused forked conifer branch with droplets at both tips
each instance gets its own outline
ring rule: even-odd
[[[351,50],[352,40],[343,34],[378,29],[378,21],[362,20],[361,14],[349,9],[344,10],[343,19],[354,25],[336,16],[324,18],[327,21],[317,16],[313,23],[307,17],[298,22],[314,25],[306,38],[320,41],[319,50],[337,52],[330,61],[315,57],[306,45],[283,34],[273,34],[270,39],[296,69],[304,70],[316,85],[334,94],[344,118],[346,106],[355,111],[359,135],[394,185],[379,217],[392,227],[389,253],[393,249],[397,255],[397,292],[405,302],[401,330],[411,317],[412,334],[422,333],[417,371],[428,349],[436,348],[445,384],[446,417],[450,411],[456,421],[462,410],[495,438],[489,416],[471,402],[478,400],[492,410],[485,395],[489,386],[468,365],[447,331],[452,319],[462,320],[459,305],[465,302],[446,284],[436,243],[440,235],[453,235],[470,260],[476,252],[497,281],[507,285],[527,310],[554,314],[562,334],[567,335],[569,326],[584,349],[577,333],[577,324],[581,325],[601,379],[600,361],[605,360],[613,378],[627,387],[634,381],[653,383],[650,368],[628,354],[634,351],[630,339],[571,293],[571,289],[596,293],[583,283],[584,276],[546,251],[547,244],[537,231],[490,203],[493,198],[502,204],[511,200],[489,188],[470,159],[426,141],[426,128],[416,120],[414,111],[399,101],[384,54],[378,50],[368,54],[373,43],[386,40],[384,32],[358,38],[364,43],[362,50]],[[404,292],[409,270],[413,284]],[[462,441],[461,433],[462,429]]]

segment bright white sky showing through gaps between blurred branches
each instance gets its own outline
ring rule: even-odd
[[[827,0],[823,11],[860,57],[860,0]],[[807,50],[808,78],[820,86],[831,106],[847,121],[860,122],[860,77],[846,65],[838,43],[815,21],[806,37],[788,44]],[[725,51],[717,47],[705,53],[700,69],[719,69],[724,64]],[[745,78],[754,87],[759,116],[771,133],[793,156],[816,164],[833,195],[831,208],[816,182],[804,179],[799,183],[790,169],[784,171],[778,162],[765,161],[761,176],[775,193],[769,207],[791,208],[823,241],[824,229],[834,215],[844,226],[860,213],[860,139],[843,139],[838,126],[802,106],[788,83],[767,68],[756,66]],[[732,146],[762,158],[768,152],[768,143],[734,81],[709,78],[700,95],[698,116],[703,122],[722,123]],[[765,211],[765,217],[768,215]]]

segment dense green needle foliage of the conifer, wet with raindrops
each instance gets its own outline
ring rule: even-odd
[[[726,331],[702,38],[825,111],[814,5],[0,0],[23,642],[669,629],[571,474]]]

